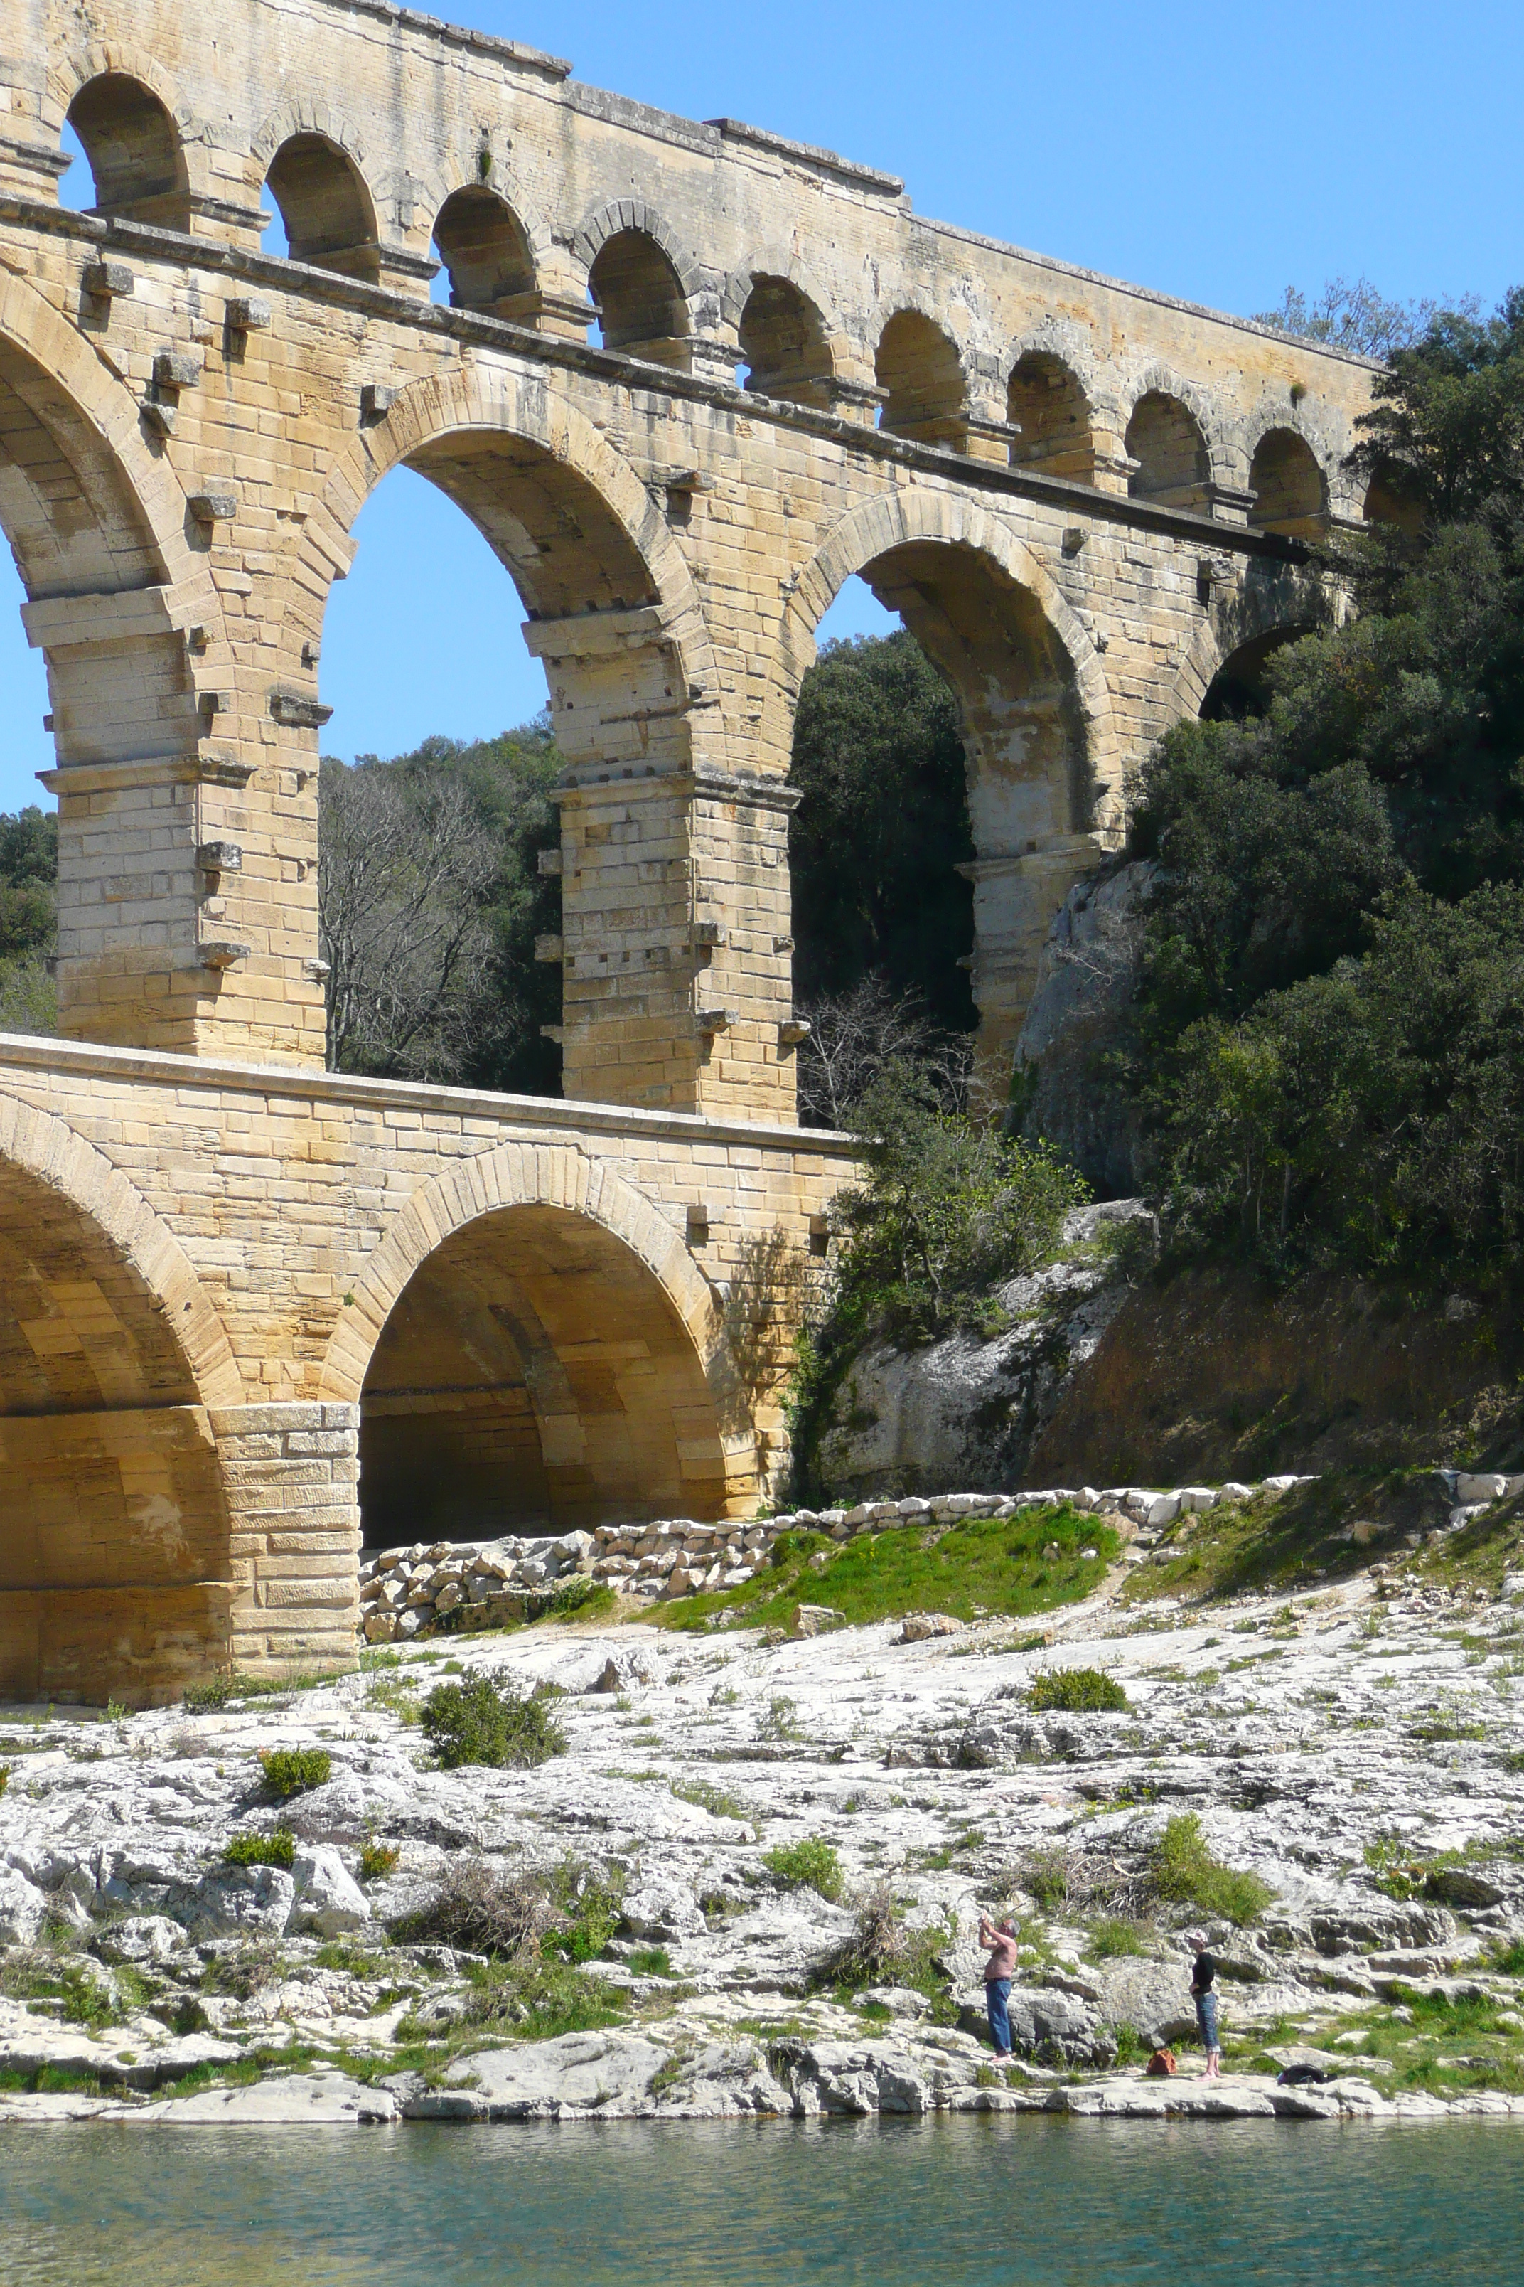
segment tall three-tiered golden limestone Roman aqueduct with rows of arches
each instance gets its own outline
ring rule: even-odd
[[[1129,764],[1328,611],[1371,375],[379,0],[7,34],[66,1038],[0,1041],[0,1692],[142,1699],[347,1656],[356,1450],[372,1537],[756,1500],[749,1265],[845,1169],[793,1125],[820,615],[861,574],[960,700],[998,1063]],[[324,1073],[322,620],[398,464],[546,666],[564,1102]]]

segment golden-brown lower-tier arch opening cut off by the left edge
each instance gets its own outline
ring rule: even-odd
[[[155,1704],[228,1658],[228,1519],[174,1326],[0,1160],[0,1697]]]

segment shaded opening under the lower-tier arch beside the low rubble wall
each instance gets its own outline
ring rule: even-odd
[[[398,1297],[361,1393],[366,1546],[724,1512],[715,1404],[656,1274],[603,1224],[466,1224]]]

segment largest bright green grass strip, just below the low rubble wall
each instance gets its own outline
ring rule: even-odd
[[[955,1619],[1051,1612],[1090,1596],[1120,1546],[1110,1525],[1069,1507],[964,1519],[946,1530],[896,1525],[845,1544],[827,1532],[784,1532],[768,1567],[745,1587],[681,1596],[651,1619],[660,1628],[711,1621],[788,1628],[800,1601],[827,1603],[855,1626],[905,1612],[951,1612]],[[818,1555],[825,1564],[811,1569]]]

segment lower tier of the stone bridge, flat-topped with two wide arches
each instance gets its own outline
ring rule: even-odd
[[[850,1155],[0,1038],[0,1697],[350,1660],[361,1519],[752,1514]]]

